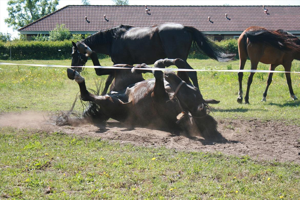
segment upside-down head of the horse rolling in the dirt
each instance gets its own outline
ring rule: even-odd
[[[170,87],[175,91],[176,98],[180,106],[184,110],[188,110],[192,115],[193,121],[205,138],[220,138],[221,135],[217,131],[217,121],[208,115],[208,103],[219,103],[220,101],[202,97],[199,89],[186,84],[174,72],[166,71],[164,77],[170,83]]]

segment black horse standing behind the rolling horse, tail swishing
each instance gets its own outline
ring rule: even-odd
[[[192,26],[184,26],[177,23],[164,23],[146,28],[138,28],[131,25],[119,25],[104,31],[99,31],[81,42],[85,43],[96,53],[109,55],[113,64],[154,64],[161,58],[180,58],[185,62],[184,68],[193,69],[187,63],[192,44],[201,53],[208,57],[226,62],[234,59],[235,54],[229,54],[205,34]],[[76,43],[73,43],[72,63],[73,69],[83,66],[87,57],[79,53]],[[101,69],[95,68],[96,74]],[[196,88],[199,88],[196,72],[188,72],[190,79]],[[140,75],[142,76],[142,75]],[[113,81],[110,75],[105,84],[103,94]]]

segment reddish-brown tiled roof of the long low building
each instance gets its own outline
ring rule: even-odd
[[[244,31],[253,25],[300,31],[300,6],[265,7],[269,14],[262,6],[148,6],[147,14],[145,6],[140,5],[68,5],[19,31],[51,31],[56,24],[65,24],[71,32],[100,31],[119,24],[147,27],[165,22],[194,26],[200,31]]]

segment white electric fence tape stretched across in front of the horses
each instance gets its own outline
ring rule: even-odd
[[[25,65],[35,67],[75,67],[66,65],[51,65],[51,64],[17,64],[0,62],[0,65]],[[126,67],[109,67],[109,66],[80,66],[84,68],[104,68],[104,69],[132,69]],[[217,71],[217,72],[262,72],[262,73],[300,73],[300,72],[286,72],[286,71],[271,71],[271,70],[195,70],[195,69],[174,69],[174,68],[138,68],[139,70],[158,70],[158,71]]]

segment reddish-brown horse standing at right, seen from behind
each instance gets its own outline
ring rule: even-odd
[[[300,60],[300,40],[298,37],[286,32],[284,30],[270,31],[259,26],[251,26],[244,30],[238,38],[238,54],[240,57],[240,70],[244,69],[247,56],[250,58],[251,70],[257,69],[258,62],[264,64],[271,64],[270,69],[274,71],[275,68],[282,64],[285,73],[287,85],[289,86],[290,97],[296,100],[292,88],[291,71],[292,61],[294,59]],[[251,72],[248,77],[247,91],[245,95],[245,103],[249,104],[249,90],[252,83],[253,75]],[[267,86],[263,93],[262,101],[266,101],[267,91],[272,82],[273,73],[268,74]],[[243,72],[238,72],[239,92],[238,103],[243,101],[242,90]]]

